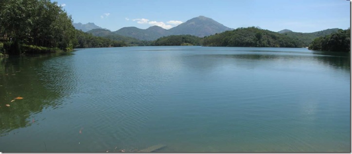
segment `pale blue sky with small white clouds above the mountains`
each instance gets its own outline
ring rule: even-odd
[[[230,28],[259,26],[270,31],[316,32],[350,27],[348,0],[52,0],[74,23],[94,22],[117,31],[175,27],[205,16]]]

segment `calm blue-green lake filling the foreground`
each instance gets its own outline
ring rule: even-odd
[[[196,46],[2,58],[0,151],[351,152],[350,63]]]

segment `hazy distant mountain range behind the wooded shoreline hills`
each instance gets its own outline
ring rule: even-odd
[[[131,38],[138,40],[151,41],[156,40],[163,36],[169,35],[181,35],[181,34],[190,34],[198,37],[209,36],[213,34],[220,34],[225,31],[234,30],[232,28],[226,27],[223,24],[204,16],[194,17],[192,19],[187,20],[186,22],[179,24],[176,27],[173,27],[169,30],[163,29],[159,26],[151,26],[147,29],[140,29],[137,27],[123,27],[115,32],[111,32],[110,30],[103,29],[95,25],[94,23],[74,23],[73,24],[76,29],[80,29],[83,32],[87,32],[93,34],[95,36],[102,36],[108,38],[114,38],[117,40],[121,40],[123,38]],[[260,27],[256,27],[257,29],[261,29]],[[298,33],[293,32],[288,29],[284,29],[277,33],[287,35],[291,38],[298,38],[302,40],[305,46],[308,46],[314,38],[319,36],[332,34],[337,32],[338,29],[327,29],[323,31],[318,31],[314,33]]]

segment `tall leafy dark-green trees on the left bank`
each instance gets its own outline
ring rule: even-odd
[[[9,54],[23,44],[71,50],[77,42],[71,17],[50,0],[1,0],[0,34]]]

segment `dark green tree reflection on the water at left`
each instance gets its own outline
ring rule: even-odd
[[[60,105],[56,100],[63,97],[63,92],[48,88],[50,82],[40,79],[43,75],[38,68],[42,68],[43,63],[50,58],[71,54],[52,53],[0,58],[0,136],[32,125],[36,121],[31,117],[33,114]],[[23,99],[15,100],[16,97]]]

